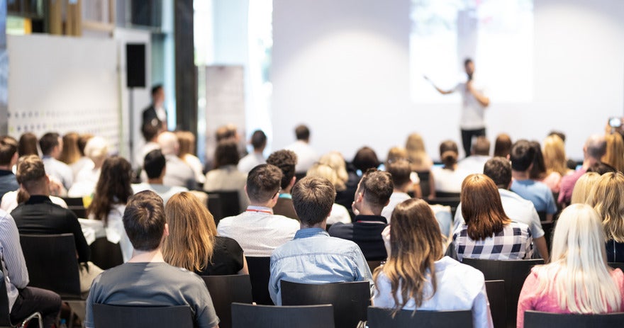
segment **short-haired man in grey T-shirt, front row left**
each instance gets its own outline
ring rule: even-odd
[[[169,234],[162,199],[152,191],[130,197],[123,226],[133,246],[130,261],[99,275],[87,298],[84,325],[94,327],[94,304],[191,307],[194,327],[218,327],[206,283],[195,273],[165,263],[162,243]]]

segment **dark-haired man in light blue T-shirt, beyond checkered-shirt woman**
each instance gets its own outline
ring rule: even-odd
[[[557,204],[552,191],[544,183],[530,179],[530,171],[534,166],[535,147],[527,140],[518,140],[511,147],[511,191],[522,198],[530,200],[538,213],[544,213],[546,221],[552,221],[557,213]]]

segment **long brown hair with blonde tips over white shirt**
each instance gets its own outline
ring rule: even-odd
[[[433,297],[438,286],[435,261],[442,258],[444,250],[438,221],[424,200],[411,198],[396,205],[391,221],[390,256],[384,266],[375,269],[373,278],[377,281],[383,272],[389,279],[396,314],[410,299],[418,308],[425,299]],[[432,285],[431,295],[424,293],[428,280]]]

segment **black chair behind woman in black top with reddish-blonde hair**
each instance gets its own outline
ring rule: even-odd
[[[221,322],[219,327],[232,327],[232,303],[253,302],[249,275],[202,276],[210,292],[215,312]]]

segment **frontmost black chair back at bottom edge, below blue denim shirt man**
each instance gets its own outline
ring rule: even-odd
[[[334,328],[334,310],[328,304],[269,306],[232,303],[232,327]]]

